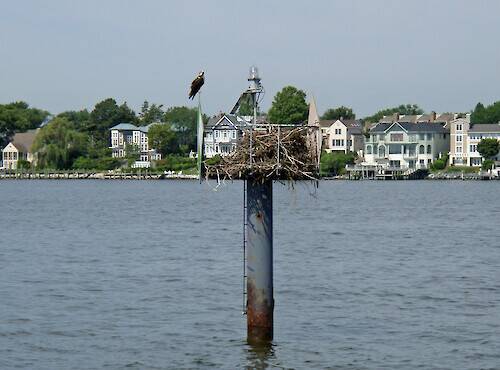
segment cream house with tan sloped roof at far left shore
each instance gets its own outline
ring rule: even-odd
[[[25,160],[33,163],[35,157],[32,152],[38,129],[20,132],[14,135],[12,140],[2,150],[2,167],[15,170],[18,168],[18,161]]]

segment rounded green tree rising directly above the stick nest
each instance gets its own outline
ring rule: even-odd
[[[286,86],[275,96],[268,118],[271,123],[302,123],[307,119],[309,107],[306,93],[293,86]]]

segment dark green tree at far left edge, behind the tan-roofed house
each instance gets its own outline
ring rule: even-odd
[[[0,147],[4,147],[16,132],[24,132],[40,126],[49,112],[30,108],[25,102],[0,104]]]

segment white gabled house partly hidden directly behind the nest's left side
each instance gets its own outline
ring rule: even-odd
[[[251,117],[221,113],[211,117],[205,126],[204,156],[226,156],[236,149],[243,129],[250,124]]]

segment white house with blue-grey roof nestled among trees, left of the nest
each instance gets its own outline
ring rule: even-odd
[[[131,123],[120,123],[110,128],[111,132],[111,150],[113,158],[124,158],[127,155],[127,147],[135,146],[139,150],[139,159],[135,161],[132,167],[149,168],[152,160],[161,159],[155,149],[149,147],[148,131],[152,125],[135,126]]]

